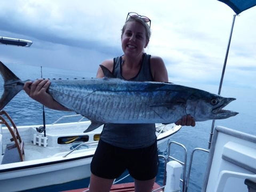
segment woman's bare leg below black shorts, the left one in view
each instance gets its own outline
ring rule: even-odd
[[[109,192],[113,184],[114,179],[100,178],[94,174],[91,174],[90,178],[90,192]]]

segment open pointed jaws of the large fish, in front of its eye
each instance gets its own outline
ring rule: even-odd
[[[231,110],[222,109],[228,105],[231,101],[236,100],[235,98],[225,98],[218,107],[212,109],[212,113],[217,116],[217,119],[228,118],[237,115],[238,113]]]

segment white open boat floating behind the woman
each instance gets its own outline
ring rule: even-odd
[[[42,125],[16,127],[5,111],[0,112],[0,123],[5,125],[0,132],[1,191],[27,190],[90,177],[90,163],[102,126],[83,133],[90,121],[58,123],[60,119],[45,125],[44,136]],[[157,144],[180,128],[175,124],[156,124]]]

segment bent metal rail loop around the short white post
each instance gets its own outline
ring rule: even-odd
[[[179,159],[177,158],[174,158],[173,156],[170,155],[171,153],[171,145],[178,145],[179,147],[181,147],[183,150],[184,150],[184,161],[180,161]],[[187,169],[187,148],[182,145],[181,143],[178,143],[176,141],[171,141],[168,145],[168,156],[167,156],[167,162],[170,161],[170,159],[174,160],[174,161],[177,161],[179,162],[181,165],[183,165],[183,175],[182,175],[182,178],[183,179],[180,179],[180,182],[182,182],[182,191],[185,191],[185,188],[186,188],[186,169]]]

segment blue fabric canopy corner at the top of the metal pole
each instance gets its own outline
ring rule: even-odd
[[[236,14],[239,14],[256,5],[256,0],[218,0],[227,4]]]

